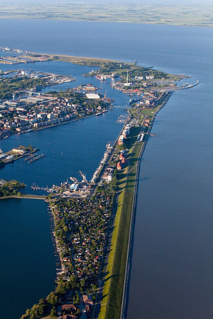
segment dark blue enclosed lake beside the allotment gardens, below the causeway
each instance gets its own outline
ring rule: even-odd
[[[42,200],[4,199],[0,213],[1,318],[20,318],[55,288],[56,257],[47,204]]]

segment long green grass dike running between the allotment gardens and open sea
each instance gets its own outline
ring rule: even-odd
[[[99,319],[120,319],[121,316],[137,162],[143,145],[143,142],[135,142],[143,124],[143,115],[141,115],[138,122],[140,122],[140,126],[131,129],[130,137],[126,142],[129,149],[127,155],[129,165],[126,165],[117,174],[120,195]]]

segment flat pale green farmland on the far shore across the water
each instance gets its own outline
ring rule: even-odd
[[[213,26],[211,5],[107,3],[2,4],[0,18]]]

